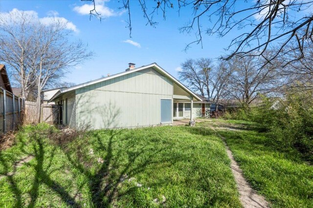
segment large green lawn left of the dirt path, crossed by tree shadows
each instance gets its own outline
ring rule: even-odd
[[[47,137],[56,131],[26,126],[0,152],[8,175],[0,207],[241,207],[223,142],[209,128],[95,130],[62,145]],[[10,176],[26,155],[34,158]]]

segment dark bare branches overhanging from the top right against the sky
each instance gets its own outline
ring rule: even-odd
[[[94,0],[91,0],[94,2]],[[138,3],[136,3],[138,2]],[[195,34],[196,40],[187,43],[185,51],[193,44],[203,47],[203,33],[225,37],[234,30],[243,30],[241,35],[234,37],[225,48],[228,55],[224,60],[234,56],[264,57],[267,51],[276,50],[272,57],[268,57],[265,65],[278,58],[284,47],[294,46],[300,55],[292,61],[306,56],[302,42],[310,40],[313,43],[313,0],[156,0],[153,3],[145,0],[123,0],[123,6],[128,10],[128,28],[132,32],[130,3],[140,6],[147,24],[155,27],[155,14],[161,10],[165,20],[168,9],[177,9],[180,15],[181,8],[192,10],[190,21],[179,28],[182,33]],[[148,4],[149,3],[149,6]],[[94,8],[95,9],[95,8]],[[151,12],[148,12],[148,11]],[[208,23],[207,23],[208,22]],[[204,28],[206,27],[206,28]],[[248,30],[246,29],[248,28]],[[298,41],[299,44],[291,44]],[[290,62],[290,63],[291,63]],[[264,65],[263,65],[264,66]]]

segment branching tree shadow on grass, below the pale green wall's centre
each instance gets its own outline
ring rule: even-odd
[[[91,203],[94,207],[112,206],[114,201],[121,196],[118,193],[118,188],[123,181],[127,179],[128,175],[135,175],[144,171],[147,165],[155,163],[151,160],[153,155],[164,149],[159,148],[154,152],[150,152],[149,157],[141,158],[140,164],[134,167],[134,163],[145,152],[145,149],[142,148],[139,151],[131,150],[135,146],[135,141],[131,135],[126,135],[124,138],[117,138],[117,135],[122,130],[107,131],[110,135],[107,140],[104,140],[100,134],[95,134],[97,145],[100,149],[105,149],[106,153],[103,157],[104,162],[94,173],[92,173],[89,167],[85,166],[83,162],[73,159],[70,153],[66,153],[67,160],[70,164],[88,178]],[[116,142],[126,142],[127,149],[117,148],[116,151],[114,151],[113,145]],[[127,154],[128,162],[126,164],[119,164],[120,155],[123,153]],[[115,171],[117,169],[119,169],[119,171]]]

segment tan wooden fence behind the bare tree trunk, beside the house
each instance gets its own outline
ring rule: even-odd
[[[55,104],[41,104],[40,122],[57,124],[60,107]],[[25,123],[36,123],[37,121],[36,102],[25,101]]]

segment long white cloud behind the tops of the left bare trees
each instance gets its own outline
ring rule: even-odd
[[[10,23],[18,23],[17,21],[21,20],[21,17],[27,17],[27,20],[30,20],[32,22],[40,22],[45,25],[50,25],[53,22],[61,22],[64,23],[66,28],[69,30],[73,30],[74,32],[79,32],[76,25],[65,19],[64,17],[58,17],[59,13],[57,11],[49,11],[47,12],[47,17],[39,18],[38,13],[33,10],[29,11],[22,11],[18,10],[16,8],[12,9],[9,13],[1,13],[0,17],[4,21],[9,21]]]

